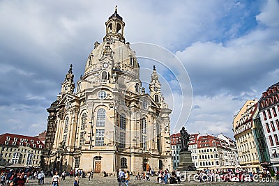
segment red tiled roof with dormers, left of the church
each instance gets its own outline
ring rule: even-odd
[[[10,137],[10,140],[7,140],[7,137]],[[15,139],[17,139],[17,141],[15,141]],[[31,140],[33,140],[33,143],[31,143]],[[6,144],[6,141],[8,141],[8,144]],[[43,144],[43,142],[40,141],[38,137],[28,137],[20,134],[10,133],[0,135],[0,144],[2,146],[27,146],[27,144],[30,144],[29,147],[31,148],[35,148],[33,147],[33,144],[36,144],[36,148],[39,148],[40,145],[42,146],[42,148],[45,147],[45,144]]]

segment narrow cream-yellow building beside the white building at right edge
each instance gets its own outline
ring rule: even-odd
[[[236,139],[236,147],[239,155],[239,165],[257,173],[262,171],[259,162],[259,154],[256,145],[255,128],[253,118],[257,115],[257,100],[248,100],[234,116],[233,130]]]

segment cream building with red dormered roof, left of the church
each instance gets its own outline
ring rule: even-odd
[[[24,166],[40,167],[44,147],[45,145],[38,137],[1,134],[0,165],[22,164]]]

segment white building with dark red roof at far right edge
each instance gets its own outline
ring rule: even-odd
[[[259,99],[259,118],[269,149],[271,166],[279,170],[279,82],[262,93]]]

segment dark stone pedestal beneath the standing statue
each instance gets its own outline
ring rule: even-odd
[[[195,164],[192,162],[190,150],[181,151],[179,153],[179,171],[195,171]]]

